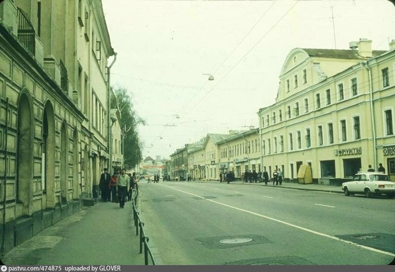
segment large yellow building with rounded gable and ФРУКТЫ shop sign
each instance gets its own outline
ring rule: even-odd
[[[276,103],[259,110],[262,166],[296,179],[310,165],[313,182],[341,184],[383,163],[395,180],[395,42],[371,40],[350,50],[293,49],[280,74]]]

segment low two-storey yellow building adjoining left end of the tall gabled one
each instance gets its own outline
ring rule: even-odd
[[[261,148],[259,129],[233,131],[218,144],[219,171],[232,171],[241,178],[245,171],[261,171]]]

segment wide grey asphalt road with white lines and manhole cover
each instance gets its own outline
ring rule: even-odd
[[[162,264],[385,265],[395,257],[393,199],[181,182],[141,183],[140,193]]]

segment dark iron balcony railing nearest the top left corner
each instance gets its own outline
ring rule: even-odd
[[[18,39],[25,46],[26,50],[35,56],[36,54],[36,34],[29,16],[18,7]]]

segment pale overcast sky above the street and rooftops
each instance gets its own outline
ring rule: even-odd
[[[258,127],[293,48],[349,49],[367,38],[388,50],[395,39],[387,0],[102,2],[118,53],[111,83],[128,89],[147,122],[139,127],[144,157]]]

